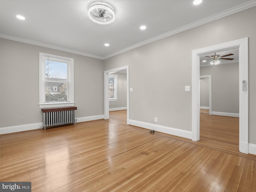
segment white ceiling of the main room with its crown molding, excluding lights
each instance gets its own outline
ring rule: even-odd
[[[132,48],[256,6],[256,0],[0,0],[0,38],[106,59]],[[88,9],[106,4],[111,24]],[[20,14],[26,20],[18,20]],[[146,30],[140,26],[146,25]],[[109,47],[104,44],[109,43]]]

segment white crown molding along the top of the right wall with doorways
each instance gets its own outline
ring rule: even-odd
[[[133,46],[130,46],[130,47],[127,47],[127,48],[124,48],[118,52],[114,52],[112,54],[109,54],[105,57],[103,57],[103,59],[107,59],[107,58],[110,58],[110,57],[113,57],[113,56],[116,56],[118,54],[121,54],[121,53],[124,53],[126,51],[129,51],[129,50],[132,50],[134,48],[138,48],[140,46],[143,46],[143,45],[146,45],[146,44],[149,44],[149,43],[152,43],[154,41],[157,41],[157,40],[160,40],[160,39],[163,39],[163,38],[166,38],[166,37],[169,37],[169,36],[172,36],[174,34],[177,34],[177,33],[180,33],[180,32],[183,32],[183,31],[186,31],[186,30],[189,30],[191,28],[194,28],[194,27],[197,27],[197,26],[200,26],[200,25],[203,25],[203,24],[206,24],[208,22],[212,22],[214,20],[218,20],[220,18],[223,18],[223,17],[226,17],[226,16],[229,16],[229,15],[232,15],[232,14],[235,14],[237,12],[240,12],[240,11],[243,11],[243,10],[246,10],[246,9],[249,9],[249,8],[252,8],[256,6],[256,1],[255,0],[251,0],[247,3],[244,3],[240,6],[236,6],[234,8],[230,8],[229,10],[226,10],[226,11],[223,11],[223,12],[220,12],[218,14],[214,14],[213,16],[209,16],[209,17],[206,17],[202,20],[198,20],[196,22],[193,22],[191,24],[188,24],[186,26],[183,26],[183,27],[180,27],[180,28],[177,28],[176,30],[172,30],[170,32],[166,32],[164,34],[161,34],[159,36],[156,36],[154,38],[150,38],[148,40],[145,40],[145,41],[142,41],[138,44],[135,44]]]

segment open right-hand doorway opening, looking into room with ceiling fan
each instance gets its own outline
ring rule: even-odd
[[[215,54],[220,57],[217,60],[220,63],[215,66],[210,64],[212,58],[200,56],[200,141],[238,152],[239,51],[236,48],[211,53],[210,56]],[[211,77],[211,83],[208,76]],[[209,88],[210,85],[212,88]],[[212,103],[209,98],[212,98]],[[210,104],[212,115],[206,113]]]

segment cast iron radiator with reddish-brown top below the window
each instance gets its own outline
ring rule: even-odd
[[[43,126],[46,128],[76,124],[75,110],[77,107],[46,108],[43,112]]]

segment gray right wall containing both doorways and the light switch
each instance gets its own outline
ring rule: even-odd
[[[249,38],[249,142],[256,144],[256,7],[104,60],[104,70],[129,65],[130,119],[191,131],[192,50]],[[214,29],[214,30],[213,30]],[[192,88],[193,89],[193,88]]]

